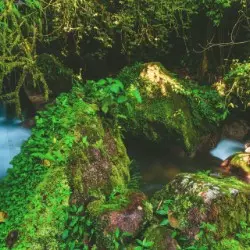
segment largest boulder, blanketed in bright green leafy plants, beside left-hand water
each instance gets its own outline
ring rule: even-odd
[[[1,180],[6,219],[0,222],[0,249],[61,249],[70,205],[105,199],[127,185],[130,161],[120,130],[103,122],[98,107],[83,97],[75,87],[39,114]]]

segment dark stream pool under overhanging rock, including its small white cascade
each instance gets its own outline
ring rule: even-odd
[[[140,138],[126,140],[128,154],[142,176],[141,189],[148,195],[161,189],[181,172],[218,172],[222,160],[244,151],[242,143],[222,139],[210,152],[197,153],[190,158],[180,147],[167,144],[155,144]]]

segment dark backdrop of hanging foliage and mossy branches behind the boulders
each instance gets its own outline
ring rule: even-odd
[[[0,94],[18,113],[22,86],[49,97],[45,53],[84,78],[150,60],[210,84],[250,54],[247,0],[6,0],[0,13]]]

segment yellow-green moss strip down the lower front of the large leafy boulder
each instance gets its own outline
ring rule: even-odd
[[[21,238],[15,249],[56,250],[71,194],[64,168],[50,169],[37,186],[36,193],[28,206],[32,213],[24,217]]]

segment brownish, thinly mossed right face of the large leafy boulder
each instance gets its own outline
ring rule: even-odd
[[[73,202],[90,196],[97,199],[126,186],[130,160],[119,131],[105,128],[100,118],[93,117],[78,126],[75,138],[68,168]],[[85,145],[81,143],[83,138]]]

